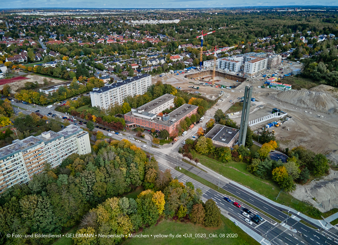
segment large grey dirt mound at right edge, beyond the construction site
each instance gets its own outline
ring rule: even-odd
[[[309,91],[307,89],[269,94],[268,98],[318,112],[330,112],[336,114],[336,108],[338,108],[337,99],[331,95],[324,92]]]

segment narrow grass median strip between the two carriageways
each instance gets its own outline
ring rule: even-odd
[[[180,170],[180,169],[177,169],[176,167],[175,167],[175,170],[177,170],[177,171],[179,171],[179,172],[181,172],[181,173],[183,173],[183,174],[189,176],[190,178],[192,178],[192,179],[194,179],[194,180],[197,180],[198,182],[200,182],[200,183],[203,184],[204,186],[208,186],[208,187],[210,187],[211,189],[213,189],[213,190],[215,190],[215,191],[218,191],[219,193],[222,193],[222,194],[224,194],[224,195],[236,197],[236,199],[239,200],[239,201],[241,201],[242,203],[245,203],[245,204],[248,205],[248,206],[252,206],[252,204],[249,204],[248,202],[244,201],[243,199],[239,198],[238,196],[235,196],[234,194],[232,194],[232,193],[230,193],[230,192],[228,192],[228,191],[226,191],[226,190],[224,190],[224,189],[222,189],[222,188],[218,189],[218,186],[214,185],[213,183],[210,183],[208,180],[205,180],[205,179],[203,179],[202,177],[199,177],[199,176],[196,175],[196,174],[193,174],[193,173],[189,172],[188,170],[185,170],[185,169],[181,169],[181,170]],[[279,220],[279,219],[277,219],[277,218],[275,218],[275,217],[273,217],[273,216],[271,216],[271,215],[265,213],[263,210],[259,209],[259,208],[256,207],[256,206],[255,206],[255,210],[261,212],[262,214],[266,215],[267,217],[269,217],[270,219],[276,221],[277,223],[280,223],[280,222],[281,222],[281,220]]]

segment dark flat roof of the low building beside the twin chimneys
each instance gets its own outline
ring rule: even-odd
[[[224,144],[229,144],[238,132],[239,129],[216,124],[205,137]]]

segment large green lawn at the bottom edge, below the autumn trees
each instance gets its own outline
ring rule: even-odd
[[[243,230],[236,226],[232,221],[226,219],[224,216],[221,216],[223,223],[218,228],[206,228],[201,225],[195,225],[192,223],[181,223],[171,220],[163,220],[158,225],[145,229],[142,231],[142,235],[149,235],[149,238],[129,238],[123,243],[123,245],[198,245],[198,244],[208,244],[208,245],[251,245],[259,244],[249,235],[247,235]],[[141,234],[141,232],[139,233]],[[172,234],[174,236],[181,235],[180,238],[155,238],[154,235],[168,235]],[[184,235],[192,235],[193,238],[185,238]],[[195,234],[205,234],[206,238],[194,238]],[[212,234],[215,237],[212,237]],[[222,237],[221,234],[224,234],[225,237]],[[237,237],[227,238],[226,234],[236,234]],[[211,238],[209,238],[209,235]]]

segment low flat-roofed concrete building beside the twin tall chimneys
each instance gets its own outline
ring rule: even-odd
[[[216,124],[206,135],[215,147],[233,147],[239,137],[239,129]]]

